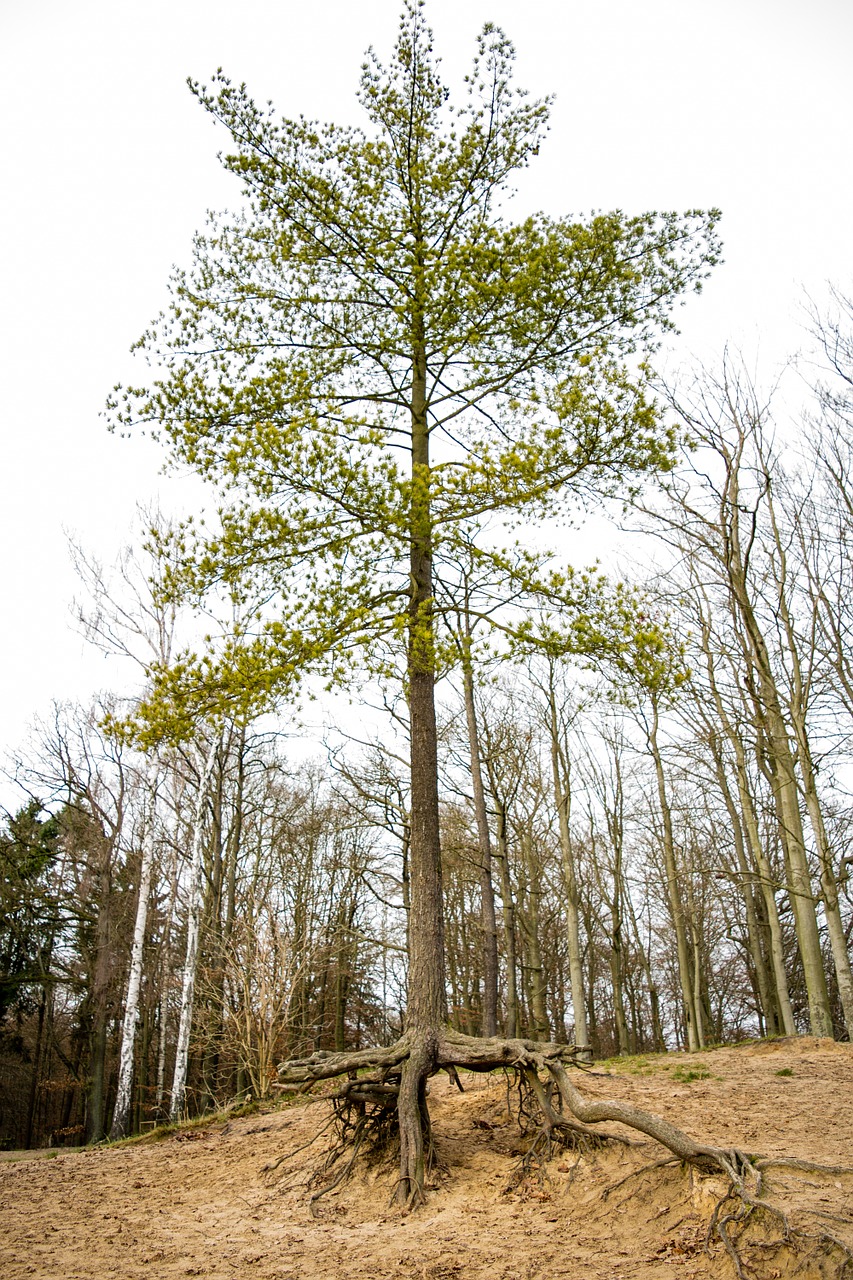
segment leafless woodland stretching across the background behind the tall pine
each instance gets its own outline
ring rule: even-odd
[[[820,330],[831,379],[794,439],[731,364],[670,396],[689,444],[630,511],[653,572],[619,654],[561,652],[542,599],[515,602],[535,626],[489,646],[479,623],[498,614],[467,570],[438,591],[457,1028],[596,1055],[850,1034],[848,332]],[[91,567],[88,586],[91,630],[115,643],[115,588]],[[168,620],[133,616],[168,652]],[[300,765],[248,714],[145,754],[119,718],[63,708],[18,767],[27,799],[0,837],[6,1144],[266,1097],[280,1059],[402,1025],[405,707],[375,741]]]

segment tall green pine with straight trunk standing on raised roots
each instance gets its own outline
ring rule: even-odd
[[[184,589],[263,580],[275,603],[240,663],[188,671],[274,689],[314,664],[334,680],[405,636],[406,1032],[370,1059],[400,1071],[402,1202],[423,1197],[426,1078],[506,1060],[444,1029],[433,577],[466,521],[544,517],[669,465],[644,358],[717,256],[713,214],[510,221],[501,198],[548,116],[512,86],[512,58],[487,26],[452,108],[407,0],[389,68],[373,52],[362,68],[370,133],[277,120],[220,73],[192,84],[231,133],[246,207],[196,238],[141,339],[155,380],[111,402],[227,495]]]

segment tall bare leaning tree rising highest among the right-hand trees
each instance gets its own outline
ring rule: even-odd
[[[685,561],[693,562],[694,580],[701,579],[708,590],[717,589],[717,598],[729,616],[736,646],[735,684],[749,708],[756,764],[771,795],[784,854],[788,896],[808,993],[809,1029],[815,1036],[831,1036],[818,897],[800,813],[800,778],[809,774],[809,750],[803,736],[802,666],[794,655],[794,668],[800,677],[798,692],[795,672],[792,678],[785,669],[792,660],[792,645],[795,649],[789,585],[780,580],[780,573],[788,577],[786,558],[777,526],[774,531],[771,477],[762,456],[768,410],[730,361],[719,380],[708,380],[690,401],[674,399],[674,407],[703,448],[706,471],[698,474],[695,468],[693,484],[690,476],[675,477],[670,486],[672,506],[660,516],[661,535],[678,547]],[[781,644],[775,641],[776,634]],[[792,696],[786,696],[786,682]],[[800,701],[799,742],[792,724],[797,701]],[[742,749],[735,746],[735,753],[742,755]],[[742,787],[744,812],[747,790]],[[766,878],[766,869],[761,874]],[[838,895],[830,881],[831,869],[825,867],[833,954],[839,970],[849,975]],[[853,992],[849,977],[845,989]]]

